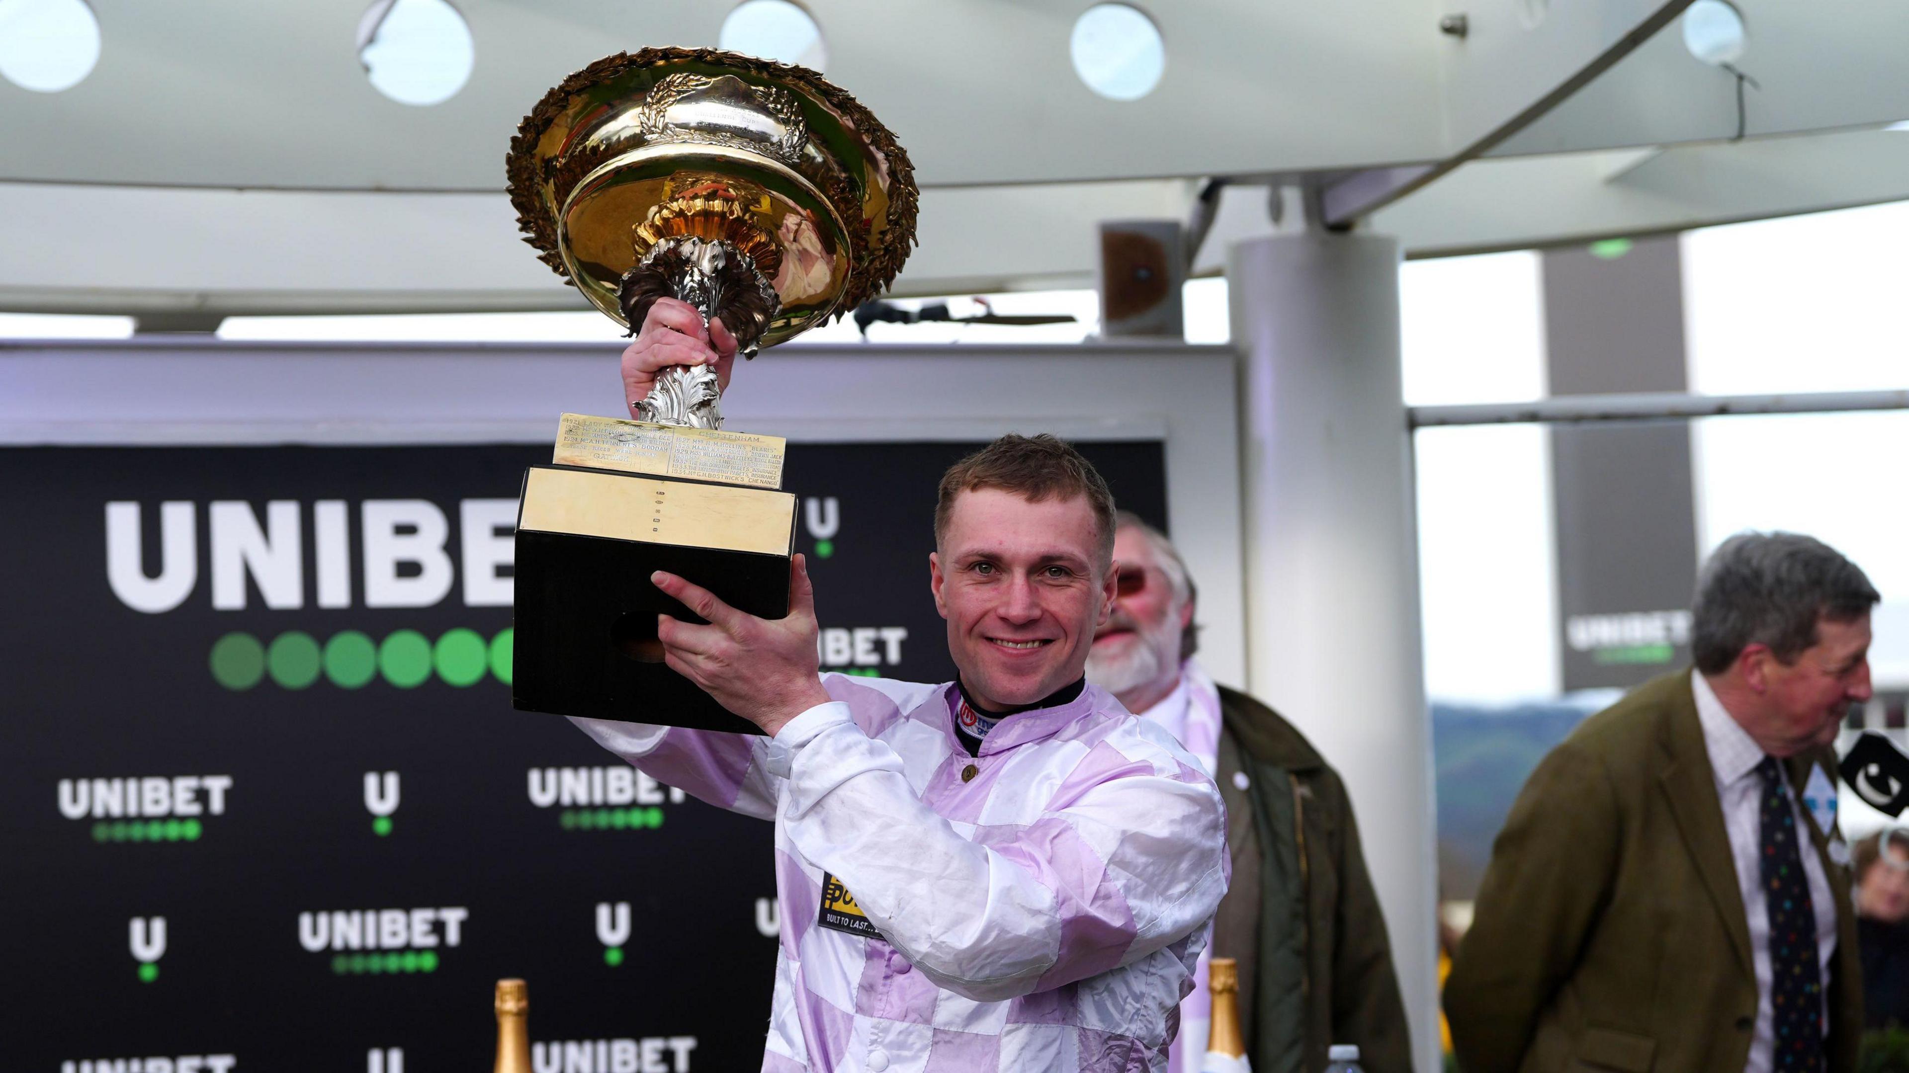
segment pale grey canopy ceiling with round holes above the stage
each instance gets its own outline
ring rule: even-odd
[[[1271,227],[1254,181],[1329,187],[1415,256],[1909,197],[1909,8],[1741,0],[1756,80],[1699,63],[1689,0],[1143,4],[1136,99],[1069,61],[1088,0],[808,0],[827,74],[924,185],[901,294],[1082,284],[1096,223],[1229,193],[1201,267]],[[580,307],[515,237],[502,158],[584,63],[716,44],[729,0],[456,0],[475,65],[414,107],[365,76],[370,0],[92,0],[94,71],[0,80],[0,307],[325,313]],[[1464,15],[1466,34],[1439,23]],[[1743,139],[1735,139],[1739,118]]]

